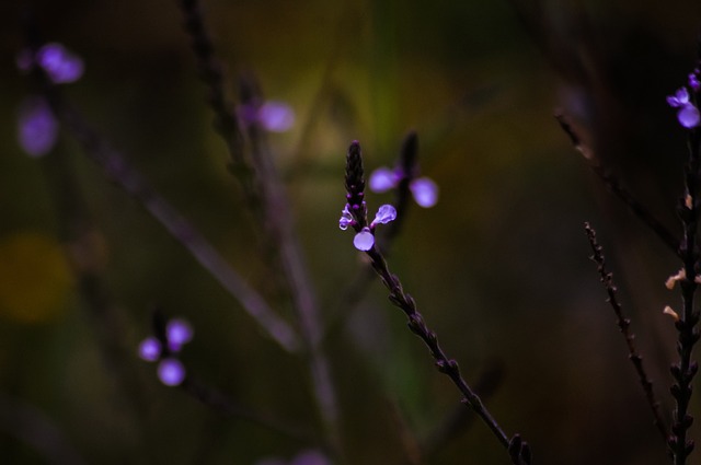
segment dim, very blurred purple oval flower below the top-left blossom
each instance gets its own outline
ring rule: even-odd
[[[47,154],[56,144],[58,120],[46,100],[32,96],[20,107],[18,116],[18,141],[31,156]]]

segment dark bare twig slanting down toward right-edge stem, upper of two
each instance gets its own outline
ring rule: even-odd
[[[556,114],[555,118],[562,130],[570,137],[572,144],[587,161],[591,171],[599,176],[604,184],[633,212],[640,221],[650,228],[675,254],[679,254],[679,241],[655,216],[642,205],[620,183],[618,177],[605,167],[598,160],[591,148],[586,146],[565,115]]]

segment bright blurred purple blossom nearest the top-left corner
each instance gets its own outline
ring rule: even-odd
[[[61,44],[49,43],[42,46],[34,56],[28,49],[18,56],[18,68],[30,71],[39,66],[56,84],[74,82],[83,75],[83,60]]]

